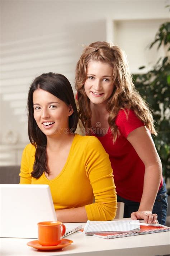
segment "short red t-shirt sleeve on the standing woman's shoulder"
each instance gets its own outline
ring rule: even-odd
[[[121,134],[125,138],[127,138],[129,133],[131,133],[138,127],[144,126],[145,124],[138,119],[138,117],[136,116],[132,109],[126,109],[125,111],[123,109],[119,111],[115,123],[118,126],[118,129],[121,132]]]

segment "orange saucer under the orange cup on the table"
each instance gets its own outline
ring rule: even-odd
[[[61,243],[58,245],[53,245],[53,246],[42,246],[41,244],[38,243],[38,240],[30,241],[27,243],[28,246],[31,246],[33,248],[36,248],[38,250],[59,250],[62,249],[69,244],[72,244],[73,241],[69,239],[62,239]]]

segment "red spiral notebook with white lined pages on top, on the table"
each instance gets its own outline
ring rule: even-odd
[[[91,227],[90,227],[91,222]],[[96,237],[101,237],[105,239],[111,238],[121,238],[121,237],[131,237],[135,235],[144,235],[152,233],[160,233],[170,231],[169,227],[166,226],[143,226],[137,225],[137,228],[134,225],[129,225],[129,220],[122,221],[88,221],[85,228],[79,230],[78,232],[94,235]],[[131,223],[139,223],[139,220],[130,221]],[[128,230],[127,230],[128,229]],[[92,230],[95,230],[92,231]],[[111,231],[112,230],[112,231]]]

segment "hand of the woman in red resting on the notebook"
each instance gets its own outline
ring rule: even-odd
[[[145,223],[149,223],[149,224],[158,223],[157,214],[152,214],[151,211],[132,212],[131,219],[132,220],[141,220],[141,219],[143,219],[145,221]]]

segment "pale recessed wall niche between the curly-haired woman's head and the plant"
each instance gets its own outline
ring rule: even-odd
[[[129,19],[114,21],[114,44],[119,45],[126,51],[131,73],[148,72],[157,60],[165,55],[161,46],[157,50],[158,44],[152,49],[149,46],[154,41],[156,32],[160,24],[167,19]],[[145,69],[139,70],[141,66]]]

